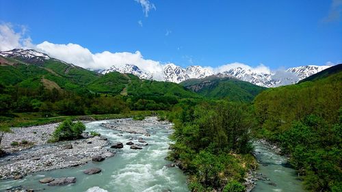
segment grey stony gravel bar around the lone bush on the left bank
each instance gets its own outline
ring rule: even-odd
[[[92,161],[94,156],[114,156],[104,137],[84,136],[88,139],[47,143],[58,124],[12,128],[5,133],[1,148],[8,154],[0,159],[0,179],[19,179],[23,176],[51,169],[75,167]],[[17,142],[17,145],[13,145]]]

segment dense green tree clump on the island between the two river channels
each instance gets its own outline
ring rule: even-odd
[[[175,124],[169,157],[189,174],[192,191],[222,191],[244,181],[253,162],[248,134],[253,121],[246,111],[246,105],[226,101],[187,100],[168,114]]]

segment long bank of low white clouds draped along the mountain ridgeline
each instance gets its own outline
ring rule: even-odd
[[[163,80],[164,66],[172,63],[163,63],[153,59],[145,59],[140,51],[130,52],[116,52],[103,51],[102,53],[92,53],[86,47],[79,44],[54,44],[52,42],[44,41],[40,44],[32,44],[31,38],[27,36],[25,27],[19,27],[18,31],[10,23],[0,24],[0,51],[8,51],[15,48],[36,49],[42,53],[47,53],[49,56],[70,64],[75,64],[82,68],[90,70],[105,70],[111,66],[124,66],[125,64],[132,64],[139,67],[143,72],[153,74],[154,79]],[[191,58],[191,57],[190,57]],[[191,61],[191,62],[190,62]],[[190,60],[190,64],[192,60]],[[266,74],[274,73],[269,67],[260,64],[257,67],[251,67],[246,64],[235,62],[232,64],[224,64],[215,68],[204,67],[212,70],[214,73],[224,72],[233,68],[244,68],[251,72],[263,72]],[[274,77],[284,79],[289,77],[285,70],[278,70]]]

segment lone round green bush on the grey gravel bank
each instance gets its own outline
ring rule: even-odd
[[[81,138],[81,134],[86,130],[82,122],[73,123],[71,120],[65,120],[53,132],[51,141],[68,141]]]

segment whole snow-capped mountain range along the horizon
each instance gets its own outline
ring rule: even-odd
[[[49,55],[40,53],[33,49],[13,49],[11,51],[2,51],[0,55],[14,59],[20,59],[27,63],[42,64],[44,60],[53,59]],[[55,59],[58,60],[58,59]],[[62,61],[63,62],[63,61]],[[65,62],[64,62],[65,63]],[[209,68],[201,66],[188,66],[182,68],[174,64],[167,64],[163,66],[163,81],[181,83],[188,79],[203,79],[215,75],[217,77],[230,77],[242,81],[248,81],[254,85],[262,87],[278,87],[280,85],[290,85],[305,79],[317,72],[325,70],[330,66],[298,66],[288,68],[287,70],[278,70],[275,72],[257,72],[250,68],[235,67],[222,72],[214,72]],[[144,71],[134,64],[125,64],[124,66],[111,66],[111,68],[98,71],[101,74],[109,72],[120,72],[127,74],[134,74],[140,79],[153,80],[153,74]]]

